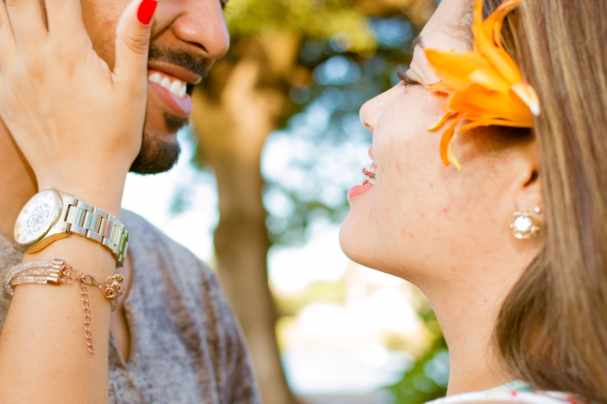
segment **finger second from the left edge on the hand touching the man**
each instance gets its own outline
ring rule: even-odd
[[[31,49],[46,43],[48,31],[40,0],[5,0],[18,48]]]

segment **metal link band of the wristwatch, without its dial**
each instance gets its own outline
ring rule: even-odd
[[[120,220],[103,209],[78,200],[78,197],[62,194],[63,209],[53,227],[101,244],[114,256],[116,267],[122,267],[129,248],[129,232]]]

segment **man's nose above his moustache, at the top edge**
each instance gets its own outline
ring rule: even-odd
[[[191,45],[192,52],[208,59],[225,55],[229,33],[220,0],[166,1],[165,4],[171,7],[169,13],[174,15],[177,11],[169,29],[181,42]],[[177,7],[179,10],[175,10]]]

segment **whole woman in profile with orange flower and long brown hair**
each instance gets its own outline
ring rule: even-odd
[[[426,294],[446,402],[605,403],[607,6],[500,3],[441,2],[362,107],[373,164],[341,246]]]

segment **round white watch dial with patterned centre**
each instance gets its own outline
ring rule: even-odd
[[[33,242],[49,231],[56,219],[57,194],[44,190],[35,194],[19,213],[15,224],[15,241]]]

